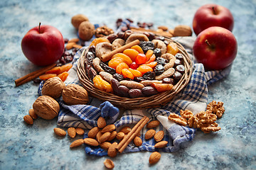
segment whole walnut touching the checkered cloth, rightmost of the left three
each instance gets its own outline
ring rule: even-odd
[[[89,101],[88,92],[78,84],[68,84],[63,89],[63,101],[68,105],[86,104]]]

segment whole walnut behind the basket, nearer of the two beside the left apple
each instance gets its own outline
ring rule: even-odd
[[[90,40],[95,32],[95,26],[89,21],[83,21],[78,28],[78,36],[82,40]]]

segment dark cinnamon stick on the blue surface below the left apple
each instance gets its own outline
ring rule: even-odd
[[[56,64],[51,64],[47,67],[43,67],[42,69],[38,69],[35,72],[31,72],[29,74],[26,74],[26,76],[23,76],[19,79],[16,79],[15,85],[16,86],[21,86],[22,84],[26,84],[28,81],[31,81],[33,79],[36,79],[37,77],[41,76],[42,74],[44,74],[46,71],[48,71],[49,69],[52,69],[53,67],[55,67]]]

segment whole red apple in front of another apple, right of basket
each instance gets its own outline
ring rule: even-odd
[[[238,52],[233,33],[222,27],[203,30],[193,45],[193,55],[206,69],[224,69],[232,64]]]

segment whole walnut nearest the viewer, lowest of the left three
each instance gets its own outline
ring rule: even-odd
[[[58,115],[60,105],[50,96],[39,96],[33,103],[33,110],[39,117],[51,120]]]

